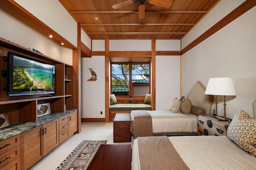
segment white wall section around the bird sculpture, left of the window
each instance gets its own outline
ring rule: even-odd
[[[92,77],[89,68],[96,72],[96,81],[87,81]],[[83,57],[81,80],[82,118],[105,118],[105,56]]]

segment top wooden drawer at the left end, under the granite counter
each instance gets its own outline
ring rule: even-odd
[[[0,141],[0,154],[20,145],[20,135]]]

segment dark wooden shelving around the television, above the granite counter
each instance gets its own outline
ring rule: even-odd
[[[40,97],[43,94],[8,96],[3,90],[6,86],[6,78],[0,76],[0,113],[7,113],[10,124],[20,121],[37,121],[37,105],[50,103],[51,112],[64,112],[73,107],[73,66],[52,59],[46,55],[36,53],[20,45],[14,44],[5,39],[0,39],[0,69],[7,70],[7,62],[3,57],[7,56],[8,51],[18,53],[32,59],[37,59],[55,65],[55,84],[52,97]],[[68,75],[68,80],[65,79]]]

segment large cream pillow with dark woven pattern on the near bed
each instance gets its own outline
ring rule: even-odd
[[[256,156],[256,119],[241,110],[228,126],[227,137],[252,156]]]

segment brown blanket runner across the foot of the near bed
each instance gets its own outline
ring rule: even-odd
[[[138,137],[140,170],[189,170],[166,136]]]

